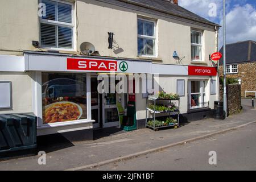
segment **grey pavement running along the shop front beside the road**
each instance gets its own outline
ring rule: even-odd
[[[103,137],[94,141],[72,143],[64,148],[46,148],[46,165],[39,165],[39,156],[0,162],[0,170],[66,170],[100,163],[105,160],[151,150],[171,143],[216,133],[256,120],[256,111],[243,105],[243,111],[225,120],[204,119],[187,123],[179,129],[153,131],[141,129]]]

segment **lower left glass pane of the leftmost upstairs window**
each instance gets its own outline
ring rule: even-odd
[[[40,34],[42,46],[56,47],[56,26],[41,23]]]

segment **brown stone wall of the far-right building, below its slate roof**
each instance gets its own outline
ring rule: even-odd
[[[223,65],[219,69],[223,76]],[[245,91],[256,91],[256,62],[238,64],[238,73],[226,74],[226,77],[241,79],[241,96],[245,97]],[[255,96],[247,93],[246,96]]]

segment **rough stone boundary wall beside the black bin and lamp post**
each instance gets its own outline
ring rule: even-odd
[[[223,101],[223,86],[220,85],[220,100]],[[227,85],[226,86],[226,94],[228,101],[228,115],[238,113],[242,109],[241,103],[241,85]]]

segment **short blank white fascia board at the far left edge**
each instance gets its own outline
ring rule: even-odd
[[[0,55],[0,72],[24,72],[24,56]]]

